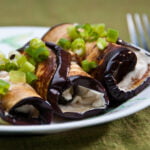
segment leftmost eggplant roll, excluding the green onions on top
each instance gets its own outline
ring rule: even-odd
[[[0,117],[9,124],[49,124],[51,107],[27,83],[11,83],[6,71],[0,72],[0,79],[10,83],[5,95],[0,97]]]

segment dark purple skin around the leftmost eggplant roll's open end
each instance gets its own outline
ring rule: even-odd
[[[39,111],[38,118],[30,117],[30,114],[18,113],[16,108],[23,105],[32,105]],[[52,108],[48,102],[39,97],[29,97],[22,99],[19,103],[11,108],[6,115],[2,107],[0,107],[0,117],[6,122],[13,125],[39,125],[50,124],[52,120]]]

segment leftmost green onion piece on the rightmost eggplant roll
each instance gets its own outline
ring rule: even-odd
[[[61,38],[61,39],[57,42],[57,44],[58,44],[60,47],[62,47],[63,49],[65,49],[65,50],[68,50],[68,49],[71,48],[71,42],[70,42],[69,40],[67,40],[67,39],[64,39],[64,38]]]

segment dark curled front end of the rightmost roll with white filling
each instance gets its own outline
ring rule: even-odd
[[[111,44],[93,76],[102,81],[112,103],[121,103],[150,84],[150,57],[128,44]]]

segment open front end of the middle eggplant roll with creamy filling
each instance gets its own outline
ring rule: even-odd
[[[66,118],[79,119],[104,112],[109,101],[102,85],[74,62],[69,69],[67,82],[59,91],[58,97],[56,90],[50,89],[49,95],[57,97],[55,102],[51,102],[55,113]]]

